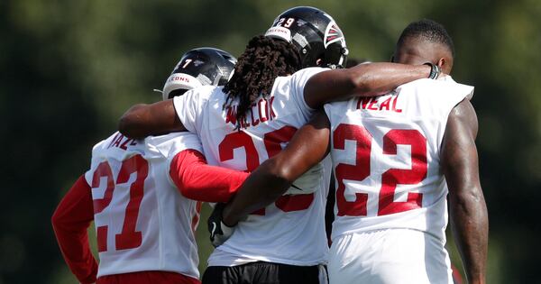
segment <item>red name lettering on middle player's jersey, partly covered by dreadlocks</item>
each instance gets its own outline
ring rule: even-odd
[[[257,103],[254,103],[250,107],[250,115],[246,115],[246,118],[240,122],[241,127],[247,128],[250,126],[257,126],[257,124],[264,123],[276,118],[272,103],[274,102],[274,96],[262,97]],[[237,119],[237,105],[229,105],[225,107],[225,123],[236,125]]]

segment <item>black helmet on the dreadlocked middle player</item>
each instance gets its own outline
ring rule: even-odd
[[[298,6],[287,10],[274,20],[265,36],[293,43],[302,68],[345,66],[348,50],[344,33],[329,14],[317,8]]]

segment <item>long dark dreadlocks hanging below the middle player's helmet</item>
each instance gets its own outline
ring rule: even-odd
[[[253,37],[235,64],[232,78],[224,87],[227,94],[224,108],[231,106],[235,98],[239,100],[236,128],[241,129],[246,113],[260,95],[271,95],[275,78],[293,74],[300,68],[300,55],[293,44],[262,35]]]

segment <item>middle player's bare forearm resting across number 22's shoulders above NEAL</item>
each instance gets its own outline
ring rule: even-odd
[[[361,64],[351,69],[357,96],[378,96],[390,92],[402,84],[428,78],[430,66],[397,63]]]

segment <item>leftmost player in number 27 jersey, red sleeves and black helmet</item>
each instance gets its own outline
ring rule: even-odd
[[[224,85],[235,61],[223,50],[189,50],[167,79],[163,99]],[[199,283],[194,231],[200,203],[182,197],[175,184],[187,197],[225,202],[246,176],[223,169],[215,175],[202,152],[192,133],[145,140],[114,133],[94,146],[90,169],[52,216],[64,259],[81,283]],[[204,179],[193,179],[194,172]],[[88,247],[93,220],[99,266]]]

